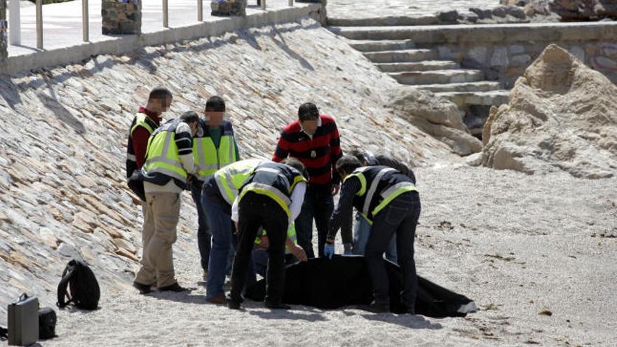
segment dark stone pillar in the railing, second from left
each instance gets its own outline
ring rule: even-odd
[[[102,0],[103,35],[141,34],[142,0]]]

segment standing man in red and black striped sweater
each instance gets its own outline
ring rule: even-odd
[[[304,195],[304,204],[296,219],[298,244],[309,258],[313,252],[313,219],[317,225],[318,254],[323,257],[323,247],[328,233],[328,223],[334,210],[334,198],[339,192],[341,178],[332,170],[343,156],[339,130],[334,118],[319,114],[315,104],[306,102],[298,109],[298,120],[288,124],[280,133],[273,161],[283,161],[287,156],[298,158],[310,179]],[[351,250],[351,240],[344,240]]]

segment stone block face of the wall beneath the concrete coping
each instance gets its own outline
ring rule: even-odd
[[[462,67],[480,69],[489,80],[512,88],[518,77],[550,43],[568,50],[586,65],[617,84],[617,41],[522,41],[509,45],[478,42],[475,45],[438,46],[442,59],[456,60]]]

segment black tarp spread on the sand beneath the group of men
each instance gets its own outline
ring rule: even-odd
[[[386,259],[384,262],[390,280],[390,310],[402,313],[400,268]],[[262,301],[265,291],[266,283],[262,279],[248,288],[246,297]],[[372,299],[372,285],[364,257],[335,255],[332,259],[309,259],[305,263],[287,266],[285,304],[332,309],[369,304]],[[416,314],[433,318],[464,317],[475,311],[475,303],[468,297],[418,276]]]

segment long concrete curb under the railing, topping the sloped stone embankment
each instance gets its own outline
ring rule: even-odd
[[[160,46],[177,43],[184,40],[201,39],[208,36],[219,36],[226,32],[248,27],[263,27],[294,22],[299,18],[311,17],[319,20],[320,4],[302,4],[278,11],[266,11],[247,15],[246,17],[221,18],[215,22],[202,22],[187,27],[164,29],[159,32],[143,33],[141,35],[110,36],[109,39],[90,43],[81,43],[66,48],[41,50],[26,55],[8,57],[0,66],[1,74],[17,74],[25,70],[66,65],[86,60],[95,55],[123,53],[140,50],[147,46]]]

